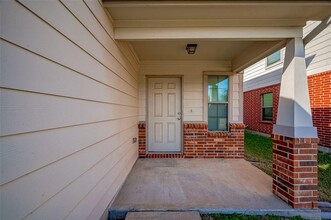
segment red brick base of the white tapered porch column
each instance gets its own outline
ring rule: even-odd
[[[318,138],[272,135],[273,193],[293,208],[317,208]]]

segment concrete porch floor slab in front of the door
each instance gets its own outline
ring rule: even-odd
[[[242,159],[138,159],[111,206],[128,211],[301,215],[272,194],[272,178]]]

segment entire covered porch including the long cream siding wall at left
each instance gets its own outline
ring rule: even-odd
[[[0,2],[1,219],[107,219],[113,201],[317,210],[304,59],[313,35],[304,38],[302,27],[325,19],[330,1]],[[197,44],[195,54],[187,44]],[[271,180],[237,161],[242,73],[284,46]],[[209,113],[208,86],[224,92],[210,103],[220,114]],[[122,192],[116,199],[122,186],[131,201]]]

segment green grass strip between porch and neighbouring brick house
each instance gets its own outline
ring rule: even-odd
[[[245,132],[245,159],[272,175],[272,142],[270,137]],[[331,202],[331,155],[318,153],[319,200]]]

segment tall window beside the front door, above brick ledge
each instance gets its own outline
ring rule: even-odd
[[[228,76],[208,76],[208,130],[228,130]]]

